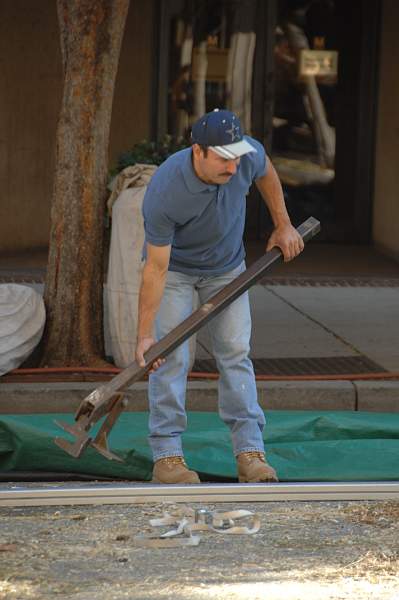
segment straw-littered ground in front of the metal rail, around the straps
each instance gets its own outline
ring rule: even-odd
[[[261,528],[140,548],[149,519],[177,505],[3,508],[0,598],[399,600],[399,502],[190,506],[248,509]]]

